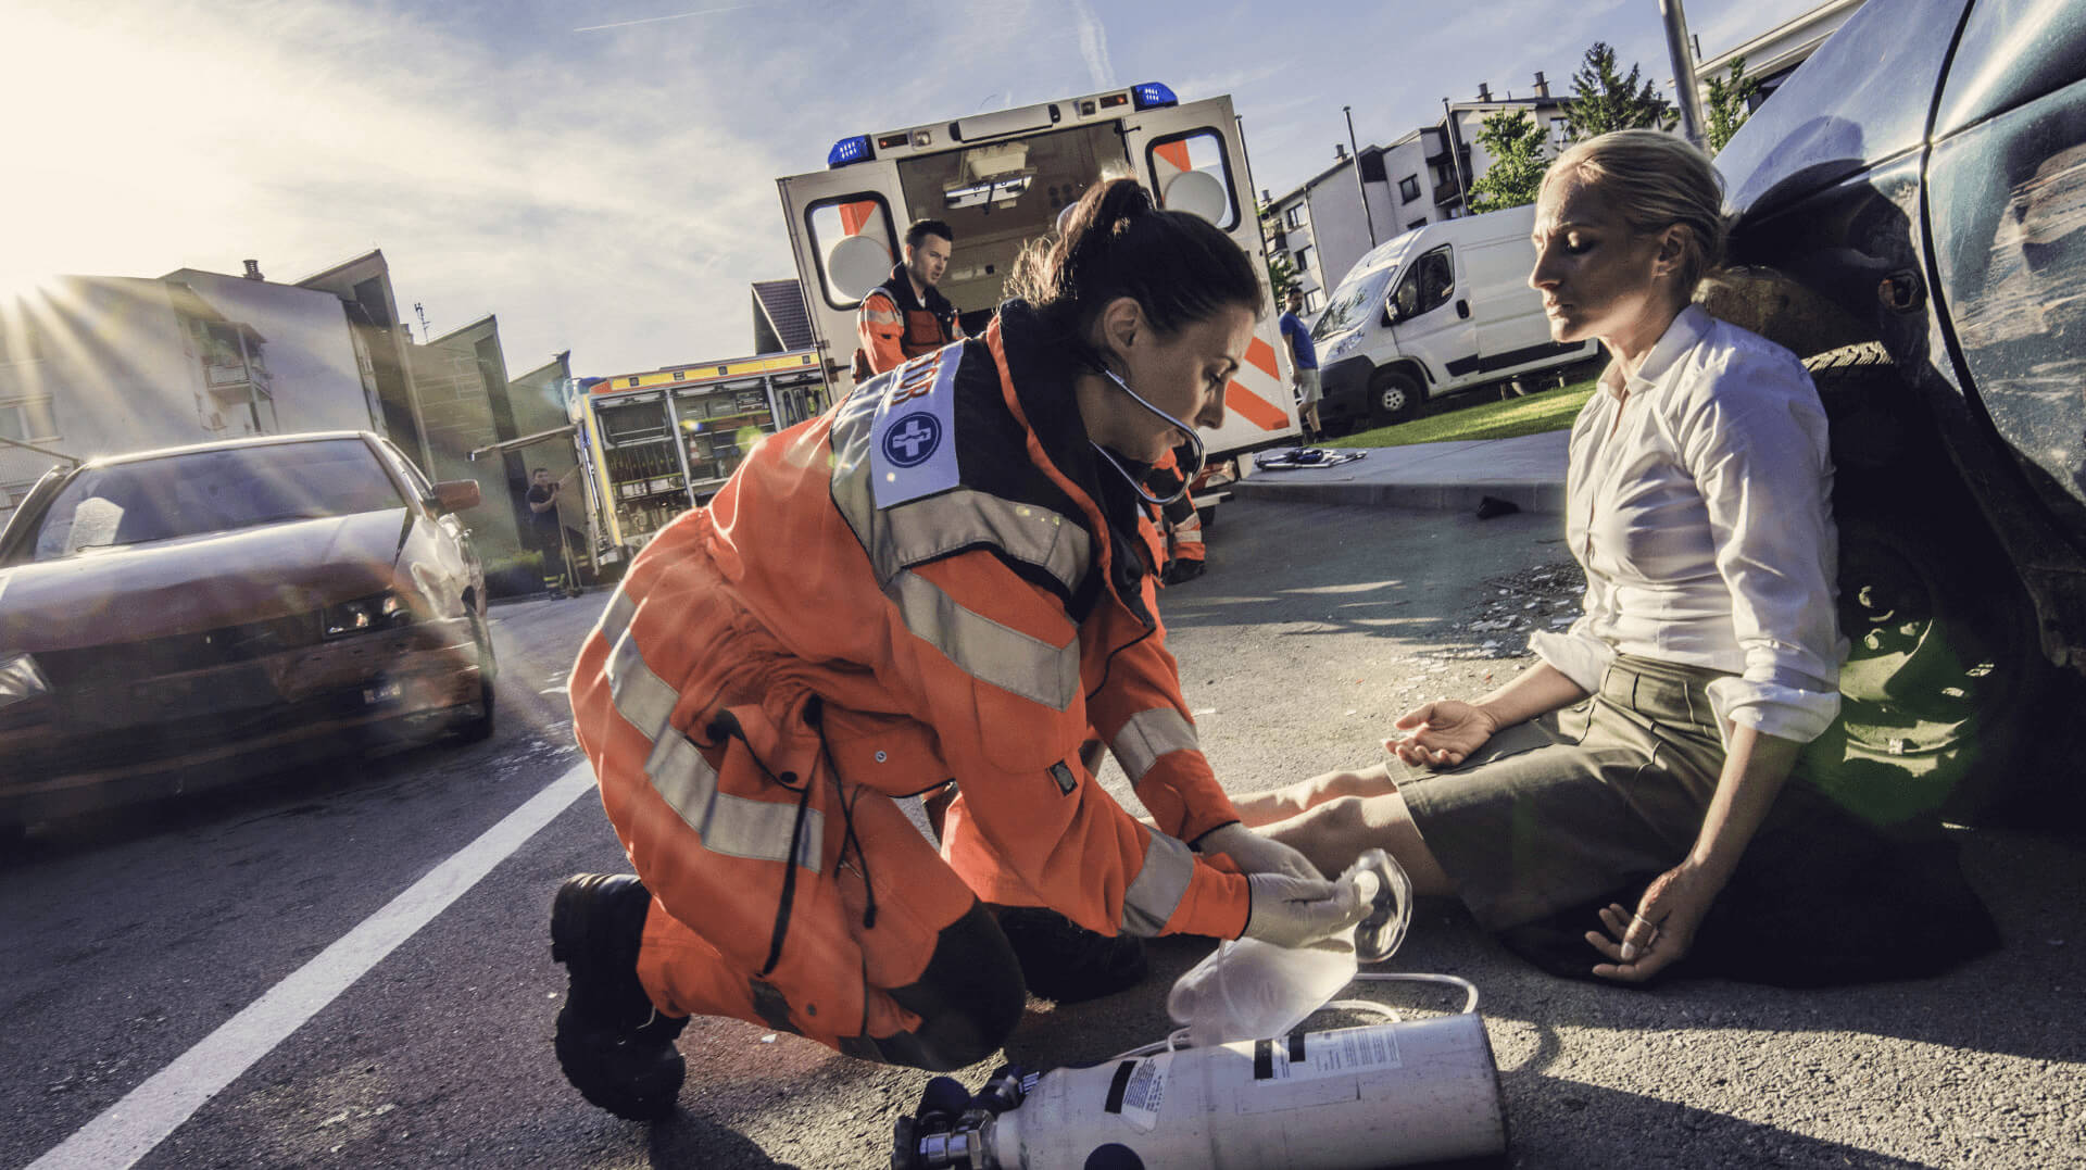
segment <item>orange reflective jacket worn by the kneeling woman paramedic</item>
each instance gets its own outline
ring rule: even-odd
[[[1245,878],[1183,845],[1239,818],[1166,653],[1149,521],[1099,467],[1041,332],[1008,302],[983,340],[766,440],[709,503],[709,557],[757,626],[745,642],[780,644],[774,676],[824,699],[843,778],[957,782],[943,857],[978,897],[1233,939]],[[1089,734],[1164,834],[1083,767]]]

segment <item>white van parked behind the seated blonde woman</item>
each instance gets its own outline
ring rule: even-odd
[[[1383,425],[1421,403],[1598,355],[1550,340],[1529,288],[1535,206],[1446,219],[1377,246],[1312,325],[1318,421]]]

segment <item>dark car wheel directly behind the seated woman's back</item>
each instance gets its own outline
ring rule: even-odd
[[[1865,434],[1867,419],[1902,419],[1909,388],[1888,361],[1842,355],[1813,377],[1834,448],[1850,448],[1834,486],[1850,651],[1840,720],[1806,749],[1804,772],[1879,824],[1986,822],[2034,799],[2021,780],[2038,774],[2032,757],[2053,738],[2046,705],[2063,680],[1940,444],[1900,432],[1888,461],[1852,459],[1882,438]],[[1877,411],[1877,394],[1898,411]]]

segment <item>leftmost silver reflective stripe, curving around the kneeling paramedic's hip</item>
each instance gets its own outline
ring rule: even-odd
[[[645,663],[630,634],[632,617],[636,603],[624,590],[615,590],[601,613],[601,636],[613,642],[607,674],[615,711],[653,742],[651,755],[645,757],[645,776],[653,790],[703,838],[703,849],[753,861],[789,861],[797,801],[751,801],[718,790],[718,770],[672,726],[680,694]],[[820,866],[824,830],[824,815],[805,809],[797,863],[814,874]]]

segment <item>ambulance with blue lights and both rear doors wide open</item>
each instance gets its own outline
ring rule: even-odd
[[[1005,300],[1022,246],[1053,231],[1058,213],[1091,186],[1122,175],[1143,184],[1156,204],[1218,225],[1268,288],[1254,179],[1229,96],[1183,104],[1147,81],[859,133],[832,144],[824,171],[776,179],[828,382],[843,394],[849,388],[855,309],[899,263],[899,238],[912,221],[941,219],[955,231],[941,292],[976,336]],[[1210,463],[1302,434],[1277,313],[1256,327],[1224,407],[1224,425],[1204,432]],[[1197,492],[1197,505],[1214,498]]]

